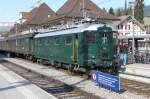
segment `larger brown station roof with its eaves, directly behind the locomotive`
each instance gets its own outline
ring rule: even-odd
[[[55,18],[46,20],[43,25],[63,24],[71,25],[83,18],[94,19],[101,23],[112,23],[119,20],[107,12],[104,12],[91,0],[67,0],[66,3],[58,9]]]

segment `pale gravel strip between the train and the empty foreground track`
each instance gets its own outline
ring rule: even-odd
[[[20,67],[37,72],[41,75],[53,78],[67,85],[71,85],[73,87],[79,88],[82,91],[99,96],[102,99],[110,99],[110,96],[111,99],[130,99],[131,97],[134,97],[133,99],[147,99],[147,97],[143,95],[139,95],[129,91],[125,91],[121,94],[118,94],[116,92],[112,92],[105,88],[101,88],[97,86],[95,82],[88,80],[84,77],[69,75],[68,73],[56,70],[54,68],[49,68],[48,66],[32,63],[30,61],[25,61],[17,58],[4,58],[4,60],[14,63]]]

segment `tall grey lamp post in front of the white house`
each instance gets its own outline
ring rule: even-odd
[[[132,8],[132,63],[135,62],[135,42],[134,42],[134,7],[135,7],[135,2],[129,2],[131,8]]]

